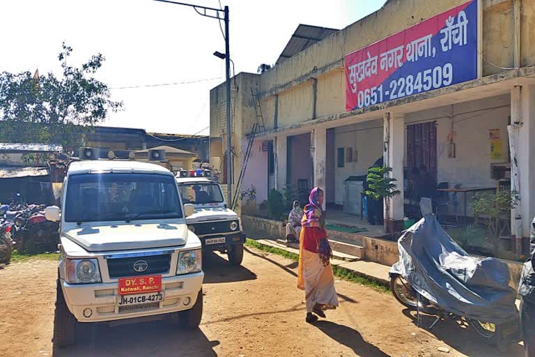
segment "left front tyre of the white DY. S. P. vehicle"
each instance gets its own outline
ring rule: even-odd
[[[54,347],[72,346],[76,343],[76,328],[78,321],[70,313],[61,283],[56,285],[56,310],[54,311]]]

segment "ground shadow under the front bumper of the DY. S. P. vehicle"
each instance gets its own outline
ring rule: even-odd
[[[209,341],[203,332],[185,331],[166,321],[152,321],[108,327],[86,324],[77,333],[75,347],[54,348],[54,357],[94,356],[217,356],[212,349],[219,341]]]

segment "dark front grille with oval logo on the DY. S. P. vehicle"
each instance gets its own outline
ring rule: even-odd
[[[134,271],[134,263],[144,260],[148,264],[146,271]],[[107,259],[109,278],[169,273],[171,255],[153,255],[148,257],[132,257]]]

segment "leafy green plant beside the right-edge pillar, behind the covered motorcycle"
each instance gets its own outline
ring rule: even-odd
[[[487,240],[493,246],[495,257],[499,251],[499,240],[509,227],[511,208],[518,204],[518,193],[509,190],[477,192],[472,201],[474,214],[483,220],[487,228]]]

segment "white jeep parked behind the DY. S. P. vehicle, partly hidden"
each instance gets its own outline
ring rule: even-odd
[[[226,205],[219,183],[210,174],[195,177],[197,172],[191,173],[194,177],[179,174],[176,179],[183,202],[195,207],[186,219],[187,227],[201,239],[203,252],[222,252],[231,264],[238,266],[242,264],[245,243],[241,220]]]

